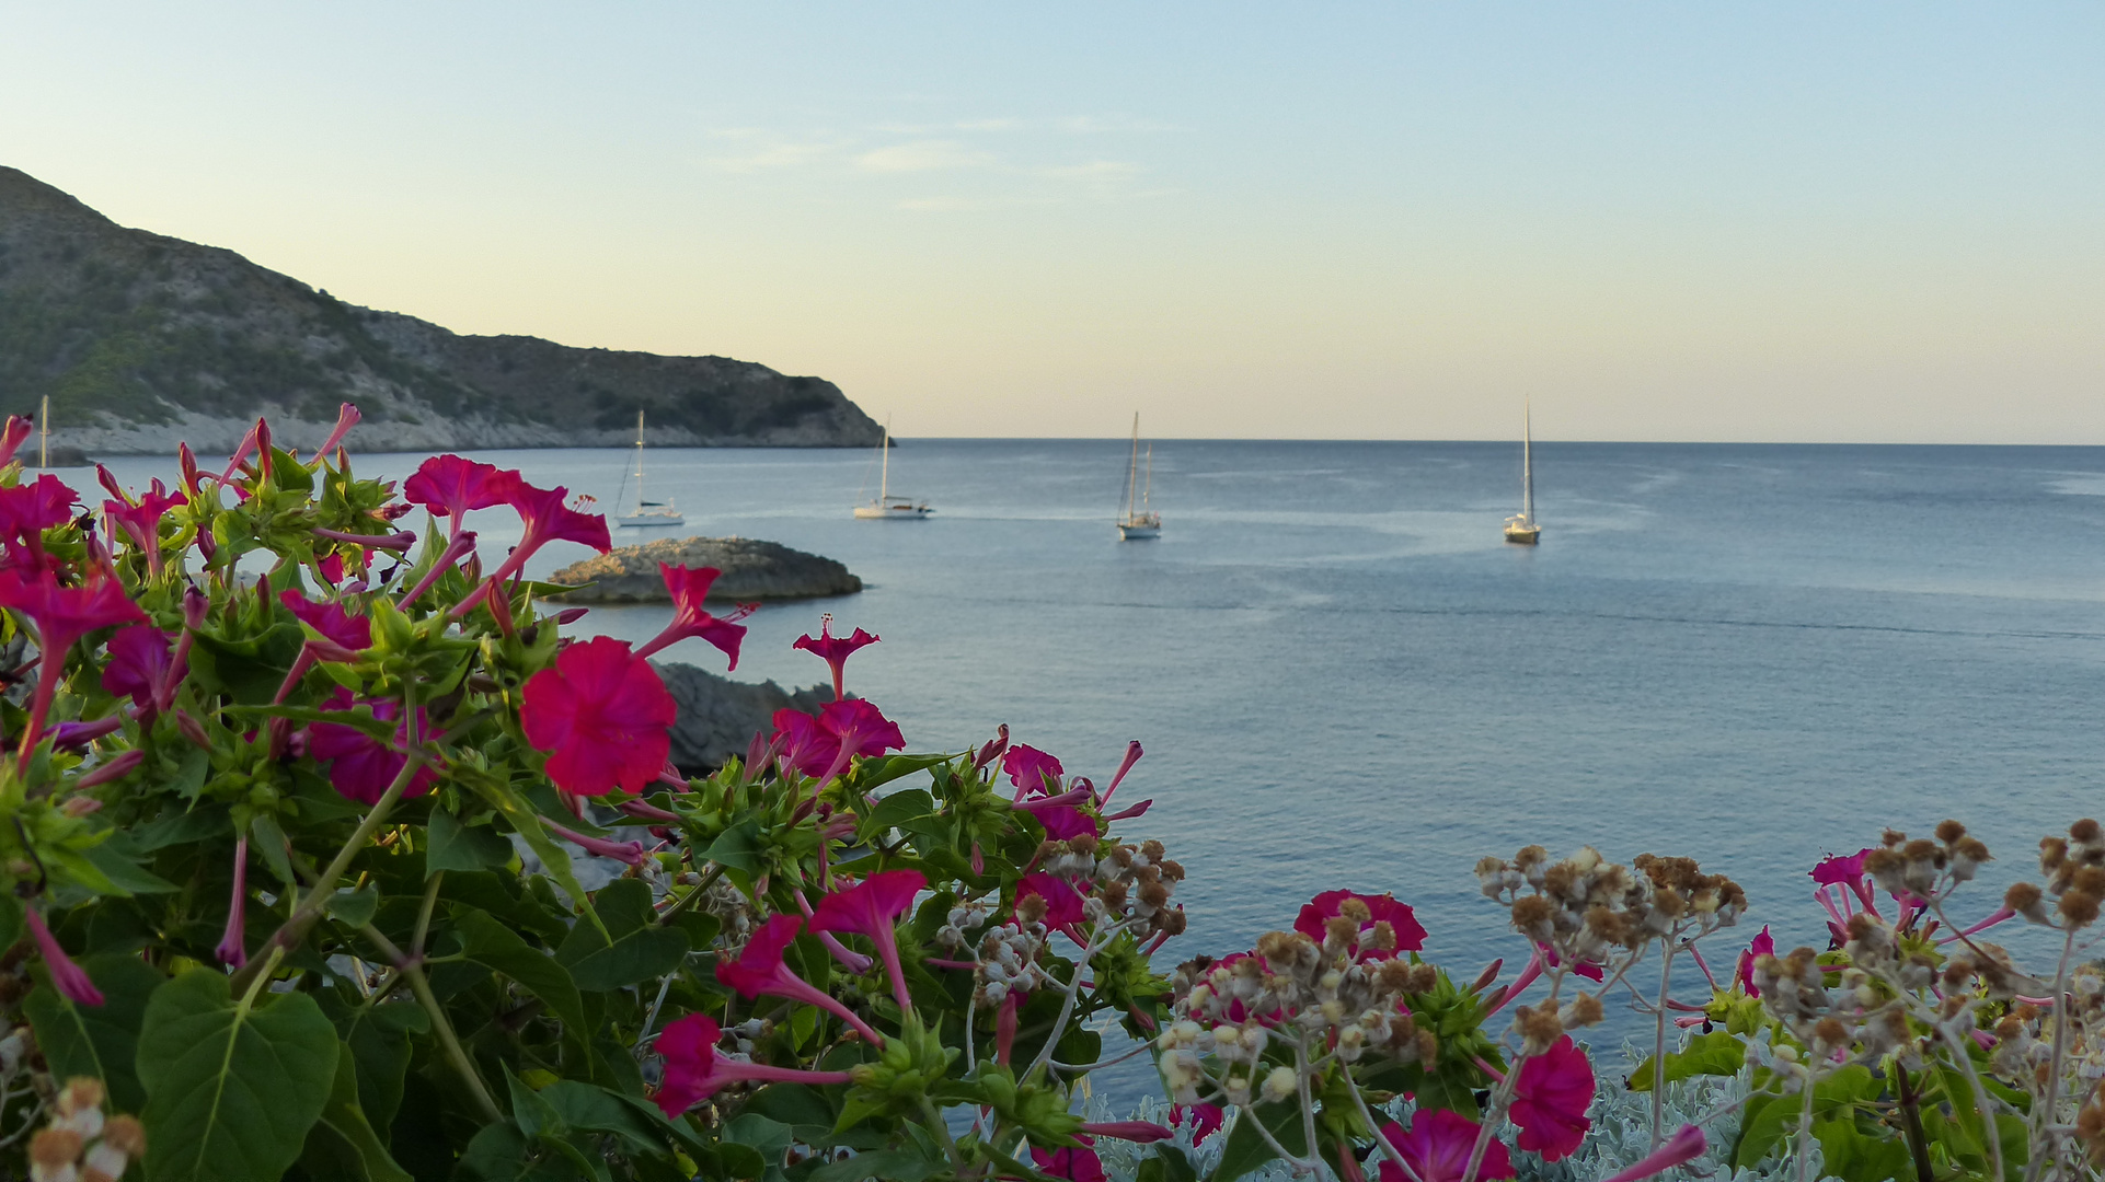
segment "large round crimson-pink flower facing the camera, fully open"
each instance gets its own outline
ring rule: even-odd
[[[554,669],[528,677],[520,709],[526,740],[552,753],[547,776],[581,797],[657,780],[678,717],[657,669],[604,635],[564,648]]]

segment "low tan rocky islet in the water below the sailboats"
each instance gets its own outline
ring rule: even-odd
[[[663,604],[669,595],[665,578],[659,574],[661,562],[722,570],[722,578],[709,587],[709,599],[726,604],[819,599],[853,595],[863,589],[861,578],[829,557],[758,538],[663,538],[640,547],[621,547],[570,564],[549,574],[549,583],[577,587],[577,591],[562,595],[566,604]],[[585,587],[587,583],[589,587]]]

